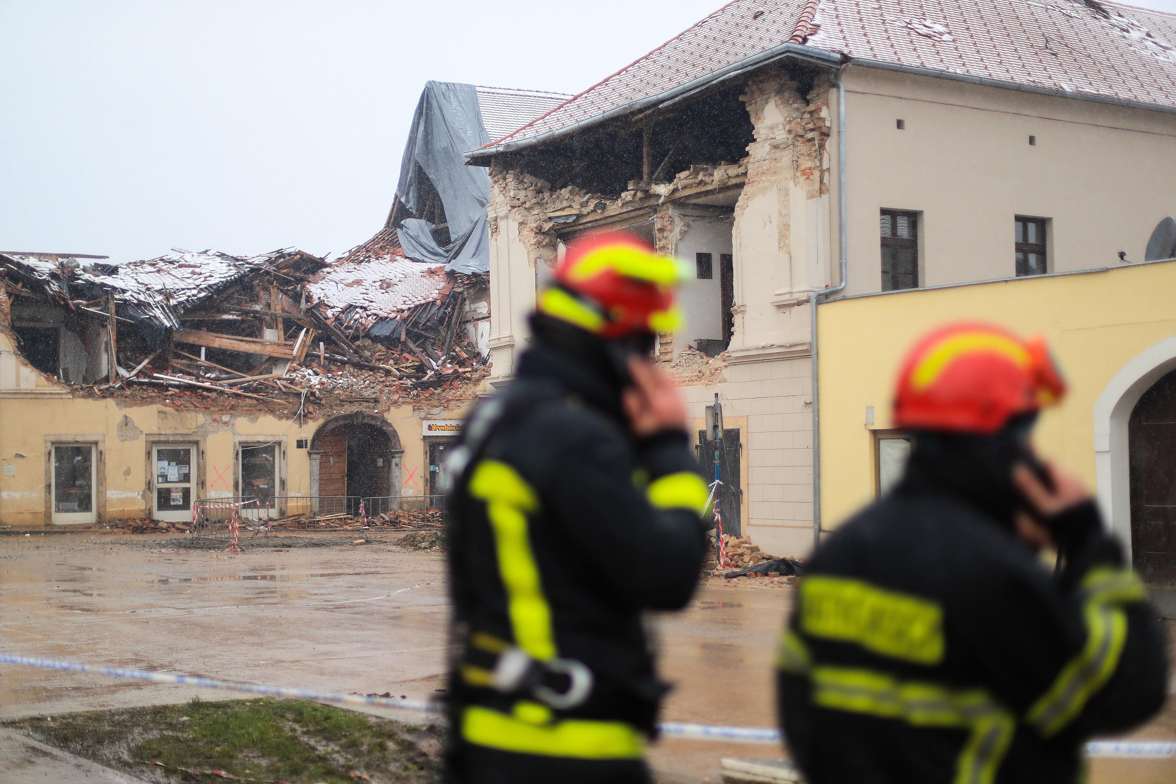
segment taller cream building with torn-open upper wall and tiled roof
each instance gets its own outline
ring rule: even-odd
[[[821,467],[814,357],[875,339],[817,346],[820,303],[1142,260],[1174,208],[1174,19],[1096,0],[723,6],[467,153],[492,180],[488,384],[509,381],[568,241],[643,237],[694,268],[659,356],[703,464],[723,404],[727,530],[803,554],[835,523],[821,473],[846,469]],[[904,438],[875,425],[886,406],[846,425],[878,487]]]

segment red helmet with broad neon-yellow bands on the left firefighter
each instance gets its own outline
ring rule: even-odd
[[[607,339],[673,332],[682,321],[674,306],[682,277],[676,259],[632,234],[596,234],[568,245],[536,310]]]

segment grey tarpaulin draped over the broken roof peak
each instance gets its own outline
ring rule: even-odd
[[[400,165],[396,195],[413,214],[421,214],[427,177],[441,197],[453,241],[437,245],[432,224],[409,218],[396,227],[408,258],[443,264],[454,272],[489,272],[486,205],[490,175],[486,168],[466,166],[463,155],[489,142],[473,85],[426,82]]]

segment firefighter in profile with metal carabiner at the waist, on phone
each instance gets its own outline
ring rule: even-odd
[[[667,686],[642,611],[690,598],[708,489],[652,363],[681,264],[640,240],[573,242],[508,388],[454,449],[448,782],[648,782]]]

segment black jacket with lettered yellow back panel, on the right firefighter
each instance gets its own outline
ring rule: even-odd
[[[917,472],[817,551],[781,640],[784,732],[811,784],[1074,782],[1096,733],[1155,713],[1162,631],[1093,503],[1054,574]]]

